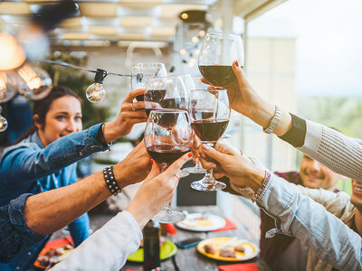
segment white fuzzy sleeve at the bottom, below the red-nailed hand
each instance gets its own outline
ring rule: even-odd
[[[122,211],[54,266],[54,271],[120,270],[142,238],[137,221]]]

